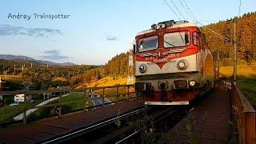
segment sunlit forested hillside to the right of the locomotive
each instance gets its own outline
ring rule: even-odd
[[[214,30],[231,41],[226,41],[220,36],[213,34]],[[217,50],[220,50],[220,57],[225,65],[230,65],[230,60],[233,56],[234,39],[234,18],[212,23],[208,26],[203,26],[202,31],[206,34],[206,42],[210,50],[214,54],[214,59],[217,58]],[[253,62],[256,59],[256,12],[243,14],[237,18],[237,45],[238,59],[246,62]]]

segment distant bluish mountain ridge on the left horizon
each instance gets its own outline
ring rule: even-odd
[[[22,56],[22,55],[12,55],[12,54],[0,54],[0,59],[5,60],[23,60],[23,61],[29,61],[29,62],[37,62],[39,64],[45,64],[45,65],[57,65],[57,66],[74,66],[74,63],[71,62],[50,62],[50,61],[43,61],[43,60],[37,60],[34,58]]]

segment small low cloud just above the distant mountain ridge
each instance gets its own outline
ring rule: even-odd
[[[42,52],[43,59],[48,59],[48,60],[62,60],[62,59],[68,59],[69,57],[62,55],[58,50],[46,50]]]

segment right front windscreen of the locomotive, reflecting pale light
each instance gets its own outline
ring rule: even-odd
[[[167,33],[163,35],[164,44],[166,48],[189,46],[190,45],[190,32],[178,31],[173,33]]]

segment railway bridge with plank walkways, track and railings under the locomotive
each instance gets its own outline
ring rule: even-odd
[[[110,90],[111,89],[111,90]],[[35,122],[28,122],[24,112],[22,121],[10,122],[0,130],[0,143],[53,143],[53,142],[129,142],[138,139],[139,134],[147,130],[148,121],[152,119],[155,128],[167,122],[161,142],[199,142],[220,143],[239,142],[255,143],[255,110],[231,82],[221,82],[215,90],[204,98],[200,98],[192,106],[162,107],[153,110],[144,106],[140,98],[136,98],[132,86],[107,86],[79,90],[37,90],[7,91],[0,95],[42,94],[44,92],[82,92],[84,108],[70,114],[63,114],[65,104],[62,102],[38,109],[50,108],[51,117]],[[100,94],[101,105],[88,106],[87,94],[95,91]],[[109,97],[109,96],[112,97]],[[61,96],[60,96],[61,97]],[[26,97],[25,97],[26,98]],[[110,101],[106,101],[109,98]],[[59,98],[61,99],[61,98]],[[72,102],[70,102],[72,103]],[[25,101],[26,104],[26,101]],[[24,111],[28,107],[24,106]],[[55,113],[54,113],[55,111]],[[146,113],[146,111],[150,111]],[[135,120],[134,120],[135,119]],[[139,121],[136,121],[138,119]],[[21,123],[22,122],[22,123]],[[125,123],[144,122],[139,125]],[[153,131],[152,129],[149,129]],[[154,132],[154,131],[153,131]],[[155,131],[155,133],[158,133]],[[148,141],[146,141],[148,142]]]

